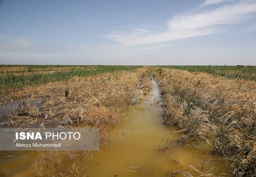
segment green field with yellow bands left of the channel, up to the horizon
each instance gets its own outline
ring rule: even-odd
[[[1,65],[0,90],[135,68],[137,66]]]

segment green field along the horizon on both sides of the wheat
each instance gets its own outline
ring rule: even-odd
[[[0,89],[63,81],[98,73],[133,70],[138,66],[1,65]],[[162,66],[170,69],[205,72],[234,79],[256,81],[255,66]]]

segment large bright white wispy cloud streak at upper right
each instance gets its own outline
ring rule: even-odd
[[[113,32],[105,37],[125,45],[139,45],[205,36],[224,32],[228,30],[227,25],[243,23],[254,13],[256,1],[240,1],[201,13],[175,15],[168,21],[166,30],[135,28],[130,32]]]

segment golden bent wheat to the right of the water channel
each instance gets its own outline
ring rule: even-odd
[[[197,148],[204,141],[212,145],[210,153],[222,154],[235,166],[234,176],[256,174],[255,81],[162,67],[154,77],[164,100],[164,122],[181,135],[167,148]]]

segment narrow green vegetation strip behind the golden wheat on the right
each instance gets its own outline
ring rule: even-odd
[[[191,72],[205,72],[222,77],[256,81],[256,66],[166,66]]]

